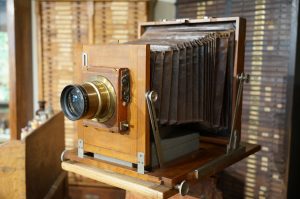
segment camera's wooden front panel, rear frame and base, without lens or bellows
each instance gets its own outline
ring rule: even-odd
[[[214,23],[234,24],[235,27],[235,57],[232,74],[234,80],[231,93],[234,123],[230,137],[201,137],[199,151],[147,173],[138,172],[138,169],[134,167],[121,166],[93,158],[93,156],[85,156],[84,154],[88,152],[130,162],[138,166],[150,165],[150,119],[145,98],[145,94],[150,89],[150,46],[130,44],[83,45],[78,49],[76,56],[78,58],[76,83],[84,82],[89,75],[99,75],[103,67],[106,70],[120,71],[122,68],[129,70],[130,102],[126,106],[127,110],[120,113],[123,114],[122,120],[128,121],[128,129],[120,132],[117,125],[114,126],[114,129],[110,129],[103,128],[101,124],[80,120],[77,123],[78,153],[76,150],[67,152],[65,157],[120,174],[174,187],[182,180],[189,179],[191,172],[195,174],[195,171],[199,171],[198,168],[204,168],[206,173],[212,173],[259,150],[259,147],[248,150],[247,144],[240,144],[242,107],[239,102],[241,102],[242,96],[238,90],[240,90],[240,85],[244,79],[241,74],[244,71],[245,19],[229,17],[147,22],[139,25],[139,36],[151,26]],[[82,54],[87,56],[83,62]],[[120,74],[116,73],[115,77],[111,78],[115,79],[114,85],[118,87]],[[121,101],[118,103],[120,105]],[[120,122],[121,120],[117,121],[117,123]],[[234,144],[232,145],[233,140]],[[78,157],[77,154],[81,155]],[[142,156],[140,156],[141,154]],[[231,158],[230,161],[227,160],[228,158]],[[217,165],[219,161],[224,163]],[[195,175],[193,176],[195,177]]]

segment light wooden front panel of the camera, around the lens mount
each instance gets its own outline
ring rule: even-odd
[[[82,53],[87,56],[86,66],[81,64]],[[112,71],[127,68],[131,85],[130,102],[126,107],[128,130],[124,133],[114,132],[111,128],[103,128],[100,123],[98,126],[96,122],[90,125],[91,120],[80,120],[78,121],[78,143],[84,152],[101,154],[131,163],[138,162],[137,153],[141,152],[147,154],[145,164],[149,163],[150,129],[145,101],[145,93],[149,90],[150,83],[149,55],[149,45],[84,45],[79,50],[77,61],[80,67],[77,67],[78,82],[76,83],[86,81],[89,76],[100,75],[99,72],[103,68]],[[118,87],[116,83],[113,84],[115,88]],[[122,106],[120,101],[118,104]]]

